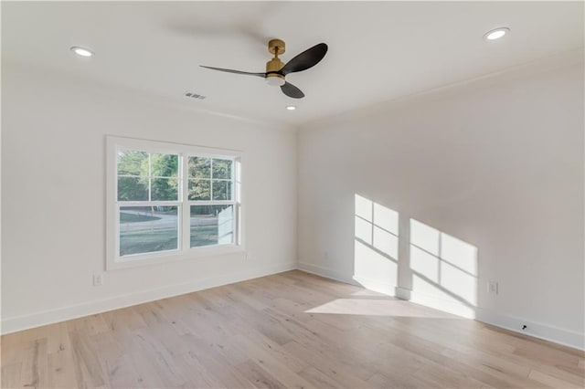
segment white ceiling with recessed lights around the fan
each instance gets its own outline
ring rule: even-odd
[[[504,39],[486,31],[508,26]],[[269,38],[286,62],[319,42],[314,68],[287,76],[293,100],[263,79]],[[75,57],[71,46],[96,56]],[[204,110],[301,123],[583,47],[582,2],[2,3],[2,60],[97,79]],[[206,100],[184,97],[186,91]],[[293,103],[298,110],[284,110]]]

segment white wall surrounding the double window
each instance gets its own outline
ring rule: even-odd
[[[178,109],[46,70],[2,70],[4,332],[295,267],[294,129]],[[93,287],[106,254],[106,135],[243,151],[251,256],[108,271]]]

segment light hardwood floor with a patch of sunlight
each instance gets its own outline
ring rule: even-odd
[[[2,387],[583,387],[585,354],[290,271],[2,337]]]

